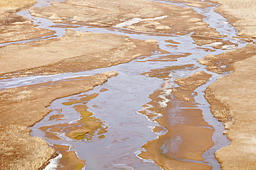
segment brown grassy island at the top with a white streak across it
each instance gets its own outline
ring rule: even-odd
[[[154,1],[108,1],[108,6],[105,6],[104,0],[67,0],[45,8],[33,8],[30,13],[55,22],[128,28],[161,34],[181,35],[194,32],[192,39],[199,45],[221,41],[216,39],[221,35],[203,22],[201,14],[190,8]]]

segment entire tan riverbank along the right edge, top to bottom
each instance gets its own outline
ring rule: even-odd
[[[205,56],[199,60],[208,70],[228,76],[220,78],[206,89],[205,98],[211,104],[215,117],[225,124],[231,140],[228,147],[223,147],[215,154],[222,169],[255,168],[255,62],[253,45],[255,39],[255,1],[223,1],[215,8],[235,25],[242,38],[252,44],[217,56]],[[239,37],[237,37],[239,38]]]

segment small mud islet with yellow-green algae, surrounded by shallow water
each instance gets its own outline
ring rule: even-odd
[[[107,89],[104,89],[103,91],[107,91]],[[81,115],[80,120],[77,120],[75,123],[62,123],[58,125],[40,127],[40,129],[48,133],[48,136],[53,136],[53,138],[57,138],[57,135],[60,132],[65,133],[65,136],[67,136],[68,138],[72,138],[75,140],[89,141],[92,140],[94,136],[95,138],[99,139],[104,138],[105,135],[103,134],[107,133],[108,127],[104,125],[104,121],[96,118],[91,111],[88,111],[88,107],[86,106],[86,103],[89,100],[96,98],[97,96],[97,93],[82,94],[78,96],[80,97],[78,100],[73,99],[69,100],[68,102],[62,103],[63,105],[74,105],[80,103],[73,106],[73,109],[75,109],[75,111],[77,111]],[[57,116],[55,117],[58,118]]]

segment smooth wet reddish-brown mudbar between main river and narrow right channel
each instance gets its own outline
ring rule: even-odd
[[[193,70],[193,65],[184,65],[152,70],[152,74],[145,75],[155,76],[157,74],[162,75],[156,76],[158,78],[167,78],[172,70],[185,70],[189,67]],[[203,120],[201,109],[196,109],[196,103],[194,103],[196,94],[193,92],[196,87],[206,83],[210,77],[211,75],[205,72],[196,72],[188,77],[176,79],[175,83],[180,87],[158,89],[149,96],[152,100],[143,105],[147,109],[139,112],[151,120],[156,120],[168,131],[167,134],[143,145],[147,151],[143,151],[139,155],[140,157],[154,160],[163,169],[212,169],[203,163],[182,161],[203,160],[203,151],[214,145],[212,142],[214,130]],[[165,86],[164,84],[163,87]],[[172,92],[171,96],[170,94],[165,96],[168,91]],[[164,104],[161,104],[164,100],[170,101],[165,107],[163,107]],[[191,107],[191,109],[181,109],[181,107]],[[170,110],[172,110],[172,114],[170,114]],[[156,118],[158,114],[163,116]],[[154,131],[159,131],[159,128],[155,128]]]

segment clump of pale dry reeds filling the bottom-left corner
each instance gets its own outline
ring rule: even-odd
[[[24,126],[0,125],[1,169],[39,169],[53,156],[54,149],[29,132]]]

